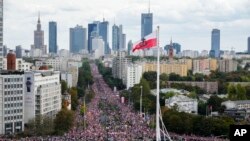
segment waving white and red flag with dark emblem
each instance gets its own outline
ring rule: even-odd
[[[145,36],[144,38],[141,39],[141,41],[134,43],[132,51],[134,52],[140,49],[149,49],[155,46],[157,46],[156,31]]]

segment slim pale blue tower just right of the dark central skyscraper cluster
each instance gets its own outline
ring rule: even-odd
[[[119,50],[119,27],[115,24],[112,26],[112,50]]]

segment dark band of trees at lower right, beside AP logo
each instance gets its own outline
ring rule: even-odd
[[[176,110],[164,112],[163,121],[168,131],[200,136],[228,136],[229,126],[234,124],[234,120],[228,117],[204,117]]]

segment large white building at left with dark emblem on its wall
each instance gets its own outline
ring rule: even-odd
[[[25,123],[37,115],[54,117],[61,110],[60,73],[40,70],[25,72]]]

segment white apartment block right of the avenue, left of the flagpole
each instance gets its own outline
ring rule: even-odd
[[[129,64],[126,68],[126,77],[123,79],[123,83],[127,89],[132,88],[135,84],[139,84],[142,77],[142,65]]]

